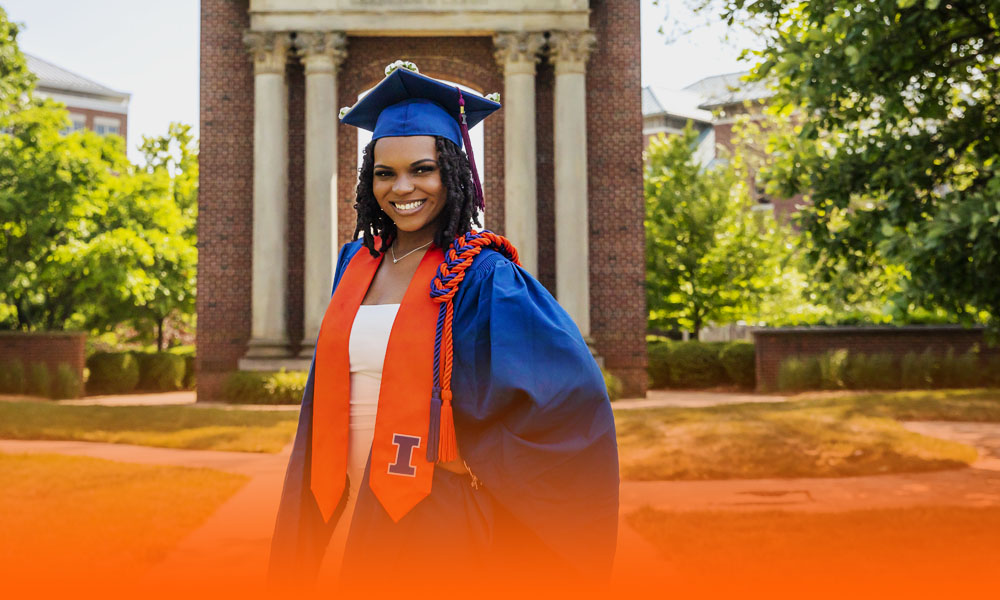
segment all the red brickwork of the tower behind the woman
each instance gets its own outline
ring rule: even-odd
[[[216,396],[235,370],[250,335],[253,209],[253,69],[242,43],[249,27],[246,0],[201,4],[201,188],[199,218],[198,395]],[[587,74],[588,186],[591,223],[592,332],[605,364],[629,394],[646,388],[646,308],[643,292],[642,111],[639,2],[595,3],[598,44]],[[483,93],[503,90],[491,37],[351,37],[338,75],[340,106],[382,79],[386,64],[406,58],[422,73]],[[294,61],[289,84],[289,334],[302,332],[304,76]],[[555,289],[553,240],[552,69],[539,65],[539,279]],[[339,110],[339,106],[335,107]],[[330,118],[336,118],[331,114]],[[487,224],[503,233],[504,111],[484,127]],[[339,243],[351,238],[356,216],[357,132],[338,129]]]

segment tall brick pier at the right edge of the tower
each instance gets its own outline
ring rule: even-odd
[[[597,36],[587,69],[591,332],[625,393],[641,395],[647,313],[639,1],[591,6]]]

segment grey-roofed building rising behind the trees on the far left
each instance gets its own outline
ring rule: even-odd
[[[89,129],[101,135],[128,138],[131,94],[119,92],[30,54],[24,55],[35,74],[35,93],[66,105],[73,122],[69,131]]]

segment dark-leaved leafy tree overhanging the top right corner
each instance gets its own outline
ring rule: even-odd
[[[755,79],[808,120],[772,171],[814,258],[905,267],[899,311],[1000,326],[1000,3],[707,2],[759,27]]]

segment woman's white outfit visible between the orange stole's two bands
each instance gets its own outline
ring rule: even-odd
[[[382,385],[382,365],[398,304],[362,304],[354,317],[348,352],[351,362],[351,426],[347,475],[350,497],[357,497],[375,437],[375,414]]]

